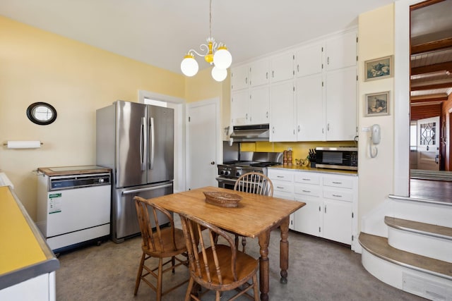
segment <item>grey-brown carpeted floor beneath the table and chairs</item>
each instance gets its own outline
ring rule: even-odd
[[[289,233],[288,283],[281,284],[279,240],[279,230],[273,231],[269,253],[270,300],[424,300],[371,276],[362,267],[361,255],[350,247],[295,232]],[[247,242],[247,253],[257,258],[257,239]],[[140,237],[60,254],[57,300],[155,300],[155,293],[145,283],[141,283],[138,295],[133,296],[140,257]],[[188,275],[185,267],[179,268],[174,276],[167,273],[164,285],[170,277],[177,281]],[[184,300],[185,290],[183,285],[162,300]],[[206,296],[205,300],[214,299]]]

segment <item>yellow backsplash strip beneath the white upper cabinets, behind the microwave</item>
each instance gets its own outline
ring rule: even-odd
[[[292,163],[295,159],[306,159],[309,149],[316,147],[355,147],[355,141],[320,141],[320,142],[242,142],[242,152],[283,152],[292,148]]]

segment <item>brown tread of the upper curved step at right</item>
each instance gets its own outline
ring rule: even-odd
[[[385,216],[384,222],[386,225],[399,230],[452,240],[452,228],[420,223],[418,221],[408,221],[407,219],[397,219],[390,216]]]

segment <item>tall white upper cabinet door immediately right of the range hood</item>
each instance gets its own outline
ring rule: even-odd
[[[270,141],[296,141],[294,90],[292,80],[270,87]]]

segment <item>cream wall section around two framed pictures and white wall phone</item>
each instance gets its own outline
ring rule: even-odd
[[[359,15],[359,212],[361,218],[393,193],[394,172],[394,78],[364,82],[364,61],[394,54],[394,6],[390,4]],[[365,94],[390,92],[389,115],[364,117]],[[381,126],[378,156],[369,156],[369,133],[373,124]],[[407,154],[408,156],[408,154]],[[361,219],[359,219],[360,225]],[[360,226],[359,226],[360,229]]]

